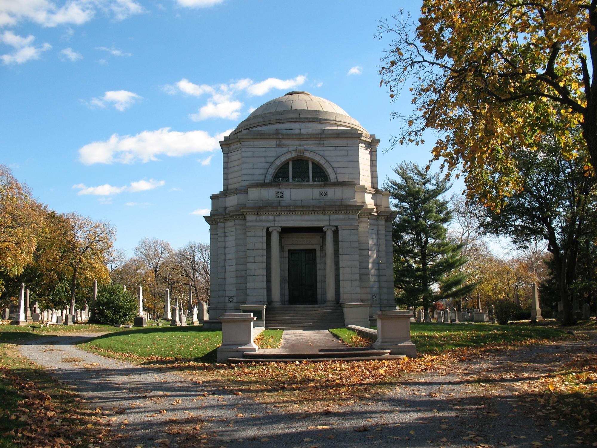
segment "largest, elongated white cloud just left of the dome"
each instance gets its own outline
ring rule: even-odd
[[[135,136],[113,134],[104,142],[93,142],[79,149],[79,160],[85,165],[94,163],[149,162],[160,155],[180,157],[198,152],[211,152],[232,129],[210,136],[206,131],[178,132],[170,128],[143,131]]]

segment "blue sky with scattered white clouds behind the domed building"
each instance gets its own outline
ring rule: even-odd
[[[217,140],[291,90],[337,103],[381,139],[396,132],[376,21],[418,2],[0,1],[0,163],[59,212],[107,219],[117,247],[208,241]],[[352,69],[352,70],[351,70]],[[431,139],[433,140],[433,139]]]

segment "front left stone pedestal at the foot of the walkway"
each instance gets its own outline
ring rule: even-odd
[[[228,358],[241,358],[245,352],[256,352],[253,342],[253,322],[251,313],[224,313],[219,318],[222,324],[222,345],[217,349],[217,361],[225,363]]]

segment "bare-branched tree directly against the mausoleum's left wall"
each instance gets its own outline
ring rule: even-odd
[[[210,300],[210,246],[189,242],[176,251],[181,275],[193,286],[195,297],[208,303]]]

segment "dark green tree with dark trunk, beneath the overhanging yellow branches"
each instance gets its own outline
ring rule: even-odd
[[[547,242],[549,266],[564,306],[563,323],[575,322],[571,295],[577,278],[580,238],[587,223],[594,222],[595,177],[587,173],[586,152],[577,157],[562,154],[557,137],[547,134],[534,149],[513,152],[522,190],[503,202],[499,213],[487,209],[484,223],[493,234],[507,234],[514,243],[527,246],[537,238]],[[585,157],[583,157],[583,154]]]

